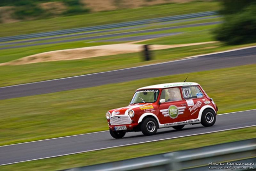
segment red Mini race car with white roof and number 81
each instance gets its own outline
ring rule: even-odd
[[[154,135],[158,129],[181,130],[186,124],[212,126],[218,107],[200,84],[175,82],[137,89],[130,104],[108,111],[110,134],[122,138],[126,132]]]

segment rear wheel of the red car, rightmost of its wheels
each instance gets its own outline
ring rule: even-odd
[[[211,109],[203,111],[201,124],[205,127],[212,126],[216,122],[216,113]]]

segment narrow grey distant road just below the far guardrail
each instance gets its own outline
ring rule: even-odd
[[[91,37],[72,38],[72,39],[66,39],[66,40],[47,41],[47,42],[41,42],[41,43],[32,43],[29,45],[3,47],[3,48],[0,48],[0,50],[32,47],[32,46],[38,46],[38,45],[51,45],[51,44],[59,44],[63,42],[73,42],[73,41],[81,41],[81,40],[92,40],[97,38],[110,38],[115,36],[125,36],[125,35],[132,35],[132,34],[138,34],[138,33],[150,33],[150,32],[157,32],[157,31],[189,28],[189,27],[208,26],[208,25],[215,25],[220,23],[221,22],[199,23],[199,24],[191,24],[191,25],[183,25],[183,26],[164,27],[164,28],[158,28],[158,29],[148,29],[148,30],[130,31],[130,32],[123,32],[123,33],[105,34],[105,35],[98,35],[98,36],[91,36]],[[33,42],[33,41],[28,40],[27,42]]]

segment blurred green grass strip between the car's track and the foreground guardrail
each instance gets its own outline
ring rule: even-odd
[[[130,145],[125,147],[116,147],[94,152],[5,165],[0,166],[0,170],[62,170],[161,153],[181,151],[184,149],[198,148],[207,145],[215,145],[219,143],[233,142],[255,137],[256,126],[253,126],[240,130],[190,136],[178,139]]]

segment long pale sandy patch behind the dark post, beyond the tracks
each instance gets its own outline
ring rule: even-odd
[[[195,44],[181,44],[181,45],[151,45],[151,50],[161,50],[193,45],[203,45],[211,44],[216,41],[208,42],[199,42]],[[49,61],[58,61],[58,60],[75,60],[83,58],[91,58],[98,56],[109,56],[109,55],[118,55],[125,53],[135,53],[143,51],[143,45],[139,44],[114,44],[114,45],[102,45],[86,48],[76,48],[76,49],[66,49],[58,50],[51,52],[39,53],[17,60],[13,60],[6,63],[1,63],[0,66],[6,65],[25,65],[28,63],[37,63],[37,62],[49,62]]]

